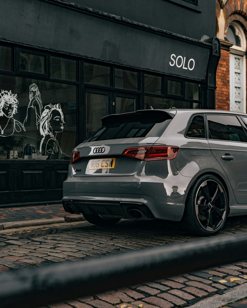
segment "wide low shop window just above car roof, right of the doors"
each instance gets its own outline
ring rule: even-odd
[[[153,109],[191,108],[190,102],[162,97],[144,96],[144,109],[150,109],[151,106]]]

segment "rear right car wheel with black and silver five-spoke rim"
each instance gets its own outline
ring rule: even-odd
[[[222,182],[214,175],[200,176],[190,188],[182,219],[185,229],[193,235],[218,233],[228,214],[228,198]]]

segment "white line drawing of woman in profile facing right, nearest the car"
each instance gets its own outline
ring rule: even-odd
[[[63,131],[64,123],[64,114],[60,104],[49,104],[44,107],[40,118],[40,135],[43,136],[40,142],[40,152],[44,144],[45,155],[62,153],[56,137],[58,132]]]

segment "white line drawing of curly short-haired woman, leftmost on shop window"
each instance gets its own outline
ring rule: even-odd
[[[25,128],[23,124],[13,118],[18,111],[17,94],[10,91],[1,90],[0,93],[0,136],[6,137],[13,135],[14,132],[21,132]],[[12,123],[14,124],[12,127]],[[4,133],[4,130],[11,129],[11,132]],[[13,130],[13,131],[12,131]]]

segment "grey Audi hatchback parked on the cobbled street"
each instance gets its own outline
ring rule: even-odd
[[[73,149],[66,212],[107,226],[121,218],[181,221],[212,235],[247,214],[247,115],[153,109],[102,118]]]

